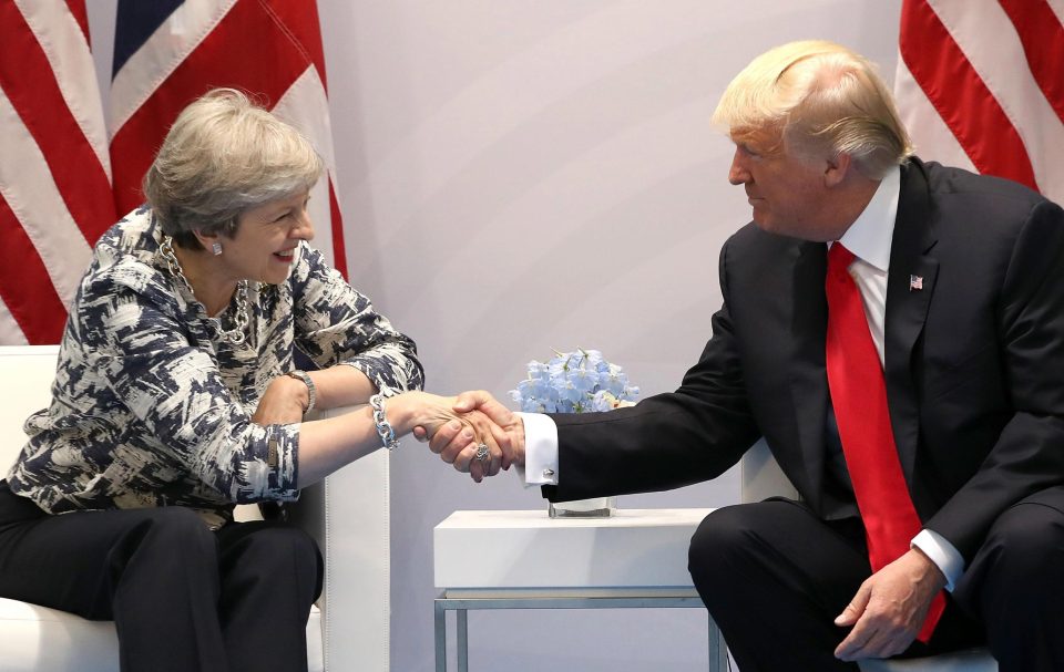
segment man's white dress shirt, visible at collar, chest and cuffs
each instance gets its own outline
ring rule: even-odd
[[[890,244],[894,234],[900,192],[901,169],[894,168],[882,179],[868,206],[839,239],[839,242],[857,257],[849,271],[861,293],[864,316],[879,352],[880,364],[884,360],[887,271],[890,266]],[[525,468],[523,472],[519,469],[519,475],[526,486],[556,485],[560,476],[557,426],[549,416],[539,413],[522,413],[521,417],[524,421]],[[947,590],[953,590],[964,572],[964,559],[956,548],[929,529],[920,530],[912,545],[942,570],[947,579]]]

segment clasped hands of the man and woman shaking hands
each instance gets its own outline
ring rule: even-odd
[[[415,394],[424,404],[415,437],[428,442],[430,451],[459,472],[480,483],[512,464],[524,464],[524,423],[491,394],[482,390],[457,397]]]

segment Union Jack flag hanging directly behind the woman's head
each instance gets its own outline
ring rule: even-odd
[[[314,245],[347,277],[316,2],[119,0],[114,32],[117,213],[141,203],[141,178],[181,110],[209,89],[239,89],[303,131],[325,158],[328,176],[310,197]]]

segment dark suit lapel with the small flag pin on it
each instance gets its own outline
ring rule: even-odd
[[[920,431],[912,356],[917,341],[923,333],[939,271],[939,262],[931,256],[937,241],[931,216],[923,164],[912,159],[902,167],[901,173],[898,217],[887,276],[884,334],[890,422],[910,490]]]

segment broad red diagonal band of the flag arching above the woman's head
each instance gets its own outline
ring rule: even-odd
[[[299,7],[304,7],[299,3]],[[143,199],[141,180],[177,114],[211,89],[264,96],[272,107],[310,62],[259,2],[237,2],[111,141],[120,213]]]

